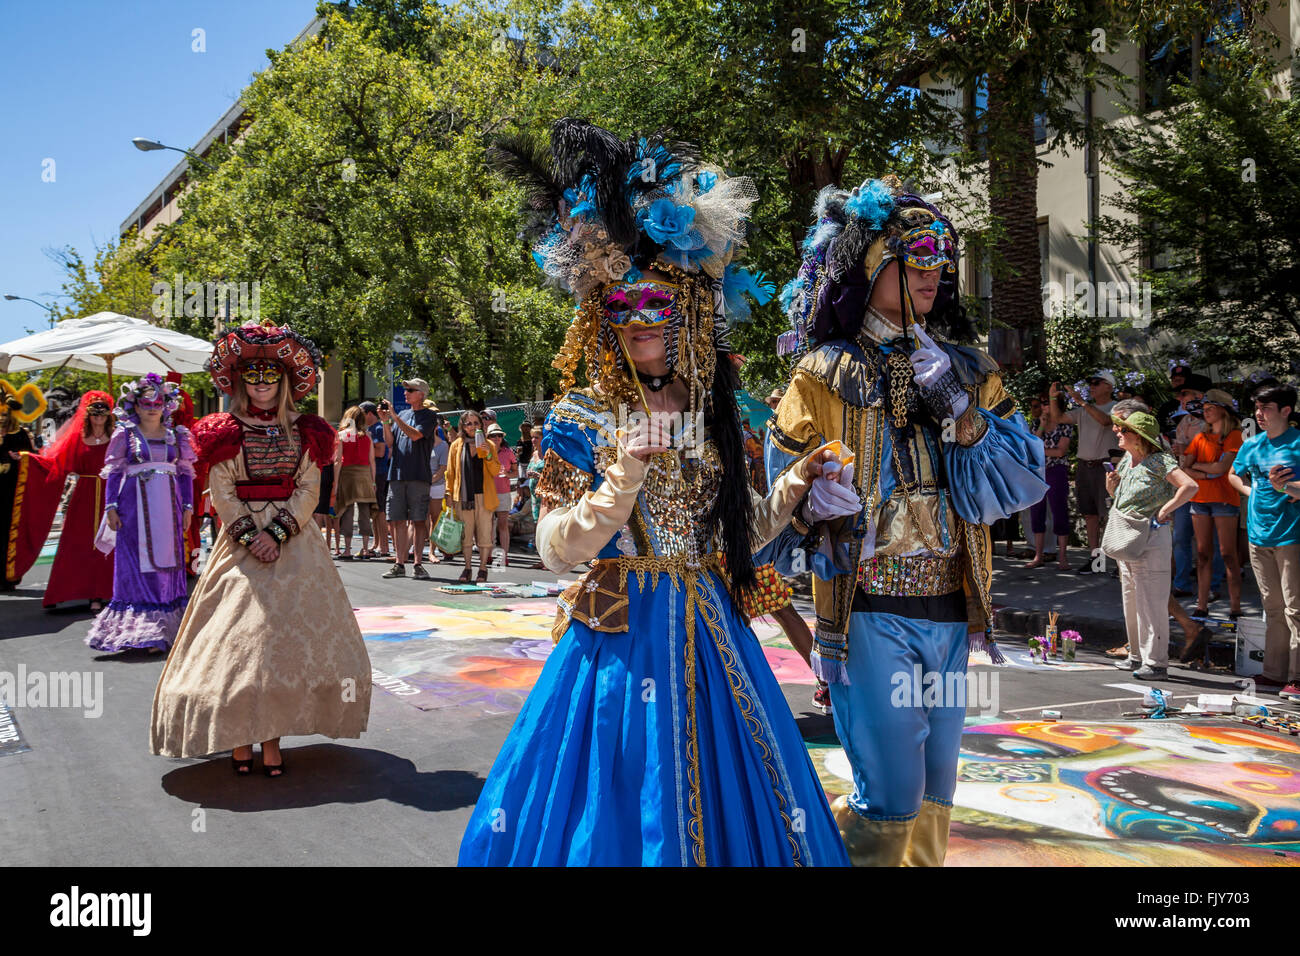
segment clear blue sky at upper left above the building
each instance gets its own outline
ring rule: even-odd
[[[91,260],[181,159],[131,139],[192,147],[315,13],[316,0],[0,0],[0,293],[55,302],[62,273],[44,250]],[[0,299],[0,342],[47,326]]]

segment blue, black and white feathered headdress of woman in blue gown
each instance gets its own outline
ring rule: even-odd
[[[697,393],[707,392],[714,350],[731,351],[728,319],[749,317],[746,295],[764,304],[775,293],[762,273],[733,261],[758,199],[753,181],[728,177],[663,131],[624,139],[576,118],[556,121],[547,144],[526,135],[499,140],[489,163],[524,187],[521,238],[532,242],[533,261],[580,302],[554,363],[564,386],[585,356],[602,388],[624,390],[628,372],[597,298],[656,268],[689,280],[668,333],[668,364],[684,358],[689,371],[680,371]]]

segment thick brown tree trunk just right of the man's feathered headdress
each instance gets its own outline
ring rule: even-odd
[[[1015,69],[989,75],[988,211],[1001,228],[993,256],[993,323],[1017,330],[1026,363],[1044,365],[1039,164],[1032,107],[1036,86],[1035,77]]]

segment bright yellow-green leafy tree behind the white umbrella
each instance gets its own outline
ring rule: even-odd
[[[482,161],[530,65],[471,8],[400,22],[426,59],[338,13],[270,52],[244,91],[255,120],[183,198],[162,273],[259,281],[263,315],[346,367],[381,368],[416,332],[439,394],[532,397],[552,386],[564,310],[510,254],[515,209]],[[198,334],[212,317],[176,323]]]

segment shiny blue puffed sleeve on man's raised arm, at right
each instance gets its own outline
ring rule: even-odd
[[[953,507],[965,520],[992,524],[1036,505],[1046,494],[1046,455],[1037,438],[1015,412],[1002,419],[978,408],[988,431],[970,446],[944,444],[944,460]]]

